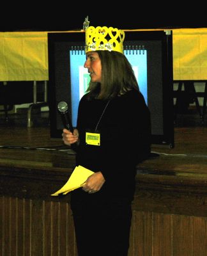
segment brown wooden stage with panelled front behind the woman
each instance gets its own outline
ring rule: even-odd
[[[207,255],[206,130],[175,128],[175,147],[153,145],[159,156],[137,166],[128,256]],[[72,173],[72,150],[48,127],[0,138],[0,252],[77,256],[70,193],[50,196]]]

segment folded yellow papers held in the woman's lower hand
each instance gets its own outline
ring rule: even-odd
[[[93,173],[94,172],[87,168],[84,168],[81,165],[76,166],[66,184],[51,196],[58,196],[59,194],[66,195],[68,192],[74,189],[81,188],[84,182]]]

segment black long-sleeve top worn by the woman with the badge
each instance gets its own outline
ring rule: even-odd
[[[116,193],[122,187],[132,195],[136,166],[150,155],[150,111],[142,94],[131,90],[109,102],[88,100],[84,95],[79,103],[77,129],[77,165],[102,172],[106,180],[103,190]],[[86,132],[100,133],[100,146],[87,145]]]

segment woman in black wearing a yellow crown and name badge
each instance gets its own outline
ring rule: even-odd
[[[150,155],[150,111],[123,54],[124,38],[117,28],[86,28],[91,81],[76,129],[63,129],[64,143],[76,145],[77,166],[95,172],[71,192],[79,256],[127,256],[136,166]]]

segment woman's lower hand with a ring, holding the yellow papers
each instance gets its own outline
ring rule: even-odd
[[[88,193],[99,191],[104,185],[105,179],[101,172],[95,172],[84,182],[82,189]]]

